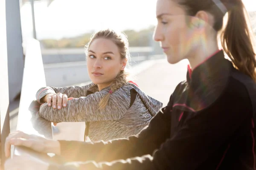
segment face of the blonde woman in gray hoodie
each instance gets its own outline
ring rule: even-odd
[[[126,60],[121,59],[119,48],[112,40],[97,38],[91,42],[87,70],[93,83],[108,86],[125,65]]]

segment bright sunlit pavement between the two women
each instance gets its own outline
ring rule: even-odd
[[[167,59],[155,60],[154,65],[134,77],[134,82],[165,106],[177,84],[186,79],[187,64],[187,60],[174,65]]]

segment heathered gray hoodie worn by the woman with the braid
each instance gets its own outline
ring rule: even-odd
[[[109,93],[110,88],[99,91],[97,85],[44,87],[38,90],[36,97],[41,99],[50,93],[67,94],[74,99],[67,101],[67,107],[60,110],[44,103],[39,114],[51,122],[86,122],[87,134],[91,141],[108,141],[137,135],[148,125],[162,108],[162,103],[146,95],[136,85],[127,82],[114,91],[105,109],[99,110],[100,100]]]

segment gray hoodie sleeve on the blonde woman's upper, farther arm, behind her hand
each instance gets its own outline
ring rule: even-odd
[[[41,99],[47,94],[66,94],[67,97],[79,98],[81,96],[86,96],[86,90],[90,86],[70,86],[70,87],[43,87],[36,93],[36,99],[38,103],[42,104]]]

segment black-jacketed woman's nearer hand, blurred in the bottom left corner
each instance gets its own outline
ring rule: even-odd
[[[48,167],[49,164],[29,156],[14,156],[4,164],[5,170],[47,170]]]

